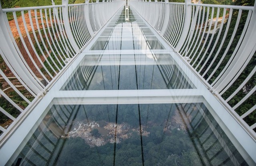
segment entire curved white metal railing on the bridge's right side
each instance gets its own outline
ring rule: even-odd
[[[231,6],[186,0],[129,4],[256,138],[256,3]]]

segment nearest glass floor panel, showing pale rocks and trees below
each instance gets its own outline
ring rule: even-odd
[[[203,103],[53,105],[21,165],[247,165]]]

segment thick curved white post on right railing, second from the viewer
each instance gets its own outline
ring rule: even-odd
[[[190,22],[191,22],[191,11],[192,11],[192,6],[190,5],[191,4],[191,0],[185,0],[185,20],[184,20],[184,28],[183,28],[183,31],[182,31],[182,34],[181,34],[181,37],[180,37],[180,41],[178,42],[176,48],[175,48],[175,51],[176,52],[179,52],[183,43],[185,42],[186,40],[186,37],[188,35],[188,32],[189,32],[189,27],[190,27]]]

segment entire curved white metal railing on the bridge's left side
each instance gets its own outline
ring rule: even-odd
[[[0,121],[7,121],[0,126],[0,141],[121,6],[122,1],[68,0],[26,8],[0,5]]]

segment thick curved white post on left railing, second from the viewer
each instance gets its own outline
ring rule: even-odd
[[[70,44],[72,45],[76,53],[81,52],[71,32],[69,19],[68,19],[68,0],[62,0],[62,5],[63,5],[62,7],[63,22],[64,22],[66,34],[68,36],[68,40],[70,41]]]

